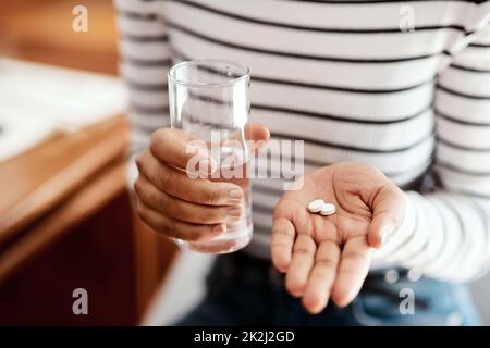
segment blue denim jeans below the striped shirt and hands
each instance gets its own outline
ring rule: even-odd
[[[371,272],[352,304],[330,303],[311,315],[286,293],[283,275],[269,262],[242,252],[221,256],[204,300],[177,325],[479,325],[466,286],[425,277],[411,282],[406,271],[396,272],[395,283],[384,279],[384,271]],[[414,295],[412,307],[402,303],[407,296],[402,289]]]

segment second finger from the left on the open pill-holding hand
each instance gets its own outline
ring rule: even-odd
[[[297,236],[285,278],[285,287],[291,295],[303,296],[309,271],[314,264],[316,250],[317,246],[310,236],[306,234]]]

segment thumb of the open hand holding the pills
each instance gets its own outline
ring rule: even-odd
[[[372,200],[372,211],[367,240],[370,247],[379,248],[402,223],[405,212],[403,191],[394,184],[383,186]]]

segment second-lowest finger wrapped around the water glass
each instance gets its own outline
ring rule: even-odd
[[[187,202],[160,191],[144,176],[136,181],[135,190],[139,200],[152,210],[188,223],[230,223],[242,215],[240,204],[205,206]]]

